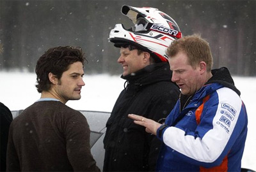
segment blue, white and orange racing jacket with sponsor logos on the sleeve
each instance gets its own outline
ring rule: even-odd
[[[220,75],[223,72],[229,74],[221,68],[216,75],[227,77]],[[246,108],[231,76],[220,82],[218,76],[212,76],[184,109],[179,99],[157,130],[163,141],[157,171],[241,171]]]

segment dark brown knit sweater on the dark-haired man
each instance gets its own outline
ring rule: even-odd
[[[86,118],[59,101],[39,101],[10,126],[7,171],[100,171]]]

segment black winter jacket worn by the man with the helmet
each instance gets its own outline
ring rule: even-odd
[[[171,81],[166,62],[151,64],[127,80],[106,124],[103,171],[154,171],[161,142],[127,117],[143,115],[163,123],[177,99],[179,87]]]

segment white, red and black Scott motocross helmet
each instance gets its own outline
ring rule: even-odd
[[[134,45],[149,52],[157,62],[168,61],[166,49],[173,40],[182,37],[179,26],[170,16],[156,8],[122,6],[122,14],[129,17],[134,26],[125,29],[124,25],[116,24],[110,31],[109,41],[115,47]]]

